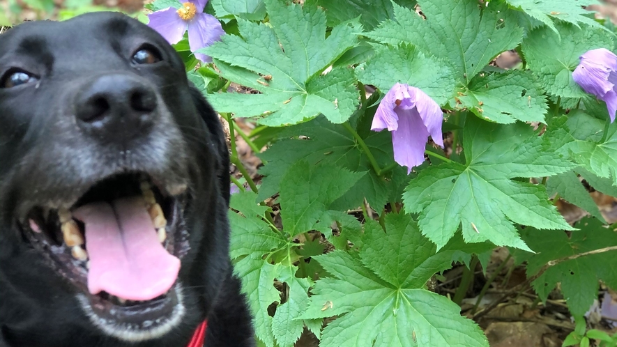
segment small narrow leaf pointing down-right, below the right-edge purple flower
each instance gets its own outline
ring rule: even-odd
[[[574,171],[567,171],[564,173],[558,173],[556,176],[551,176],[547,180],[547,191],[549,195],[558,192],[561,195],[561,199],[573,203],[579,206],[583,210],[600,219],[600,222],[606,224],[607,221],[602,217],[602,213],[598,210],[595,201],[591,199],[589,192],[581,184],[579,177]]]

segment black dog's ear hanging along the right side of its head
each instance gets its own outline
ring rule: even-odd
[[[204,95],[201,94],[201,91],[194,86],[190,86],[190,94],[199,116],[204,120],[212,135],[212,142],[216,148],[217,154],[221,158],[222,168],[218,172],[218,178],[221,194],[225,198],[227,205],[229,205],[229,185],[231,184],[229,180],[229,150],[227,149],[227,141],[225,141],[223,127],[216,111],[208,104]]]

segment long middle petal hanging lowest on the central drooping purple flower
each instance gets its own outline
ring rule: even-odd
[[[412,167],[424,162],[424,151],[429,132],[418,113],[418,109],[395,109],[399,116],[398,129],[392,132],[392,145],[395,162],[407,167],[407,173]],[[441,136],[440,136],[441,137]]]

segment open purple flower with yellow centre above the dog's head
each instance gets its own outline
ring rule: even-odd
[[[197,49],[212,45],[225,33],[220,22],[213,16],[204,13],[208,0],[189,0],[182,7],[165,8],[148,15],[148,26],[158,31],[167,42],[178,43],[188,30],[188,45],[195,57],[204,63],[210,63],[212,58],[206,54],[195,53]]]

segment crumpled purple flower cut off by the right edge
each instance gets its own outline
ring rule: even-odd
[[[617,111],[617,56],[606,48],[598,48],[581,55],[580,59],[581,63],[572,72],[574,82],[607,103],[613,123]]]

